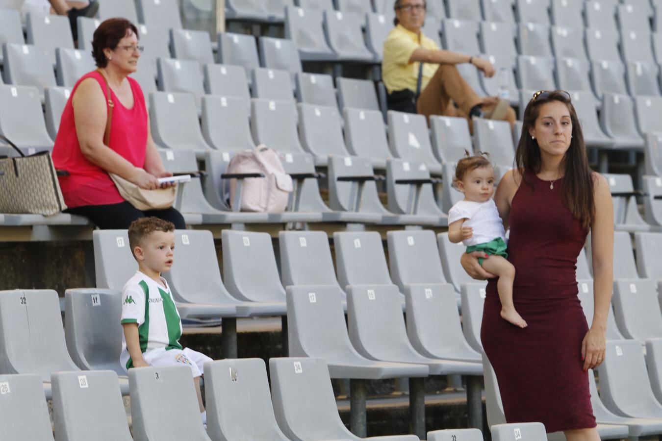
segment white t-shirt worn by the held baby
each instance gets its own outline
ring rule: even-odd
[[[448,211],[448,225],[466,219],[463,227],[473,228],[473,235],[462,241],[467,247],[493,241],[497,237],[506,241],[506,232],[503,229],[503,221],[498,215],[493,198],[486,202],[473,202],[473,200],[461,200],[453,205]]]

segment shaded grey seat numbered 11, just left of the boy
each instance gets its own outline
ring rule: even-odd
[[[82,370],[112,370],[126,376],[122,352],[122,293],[117,290],[66,290],[64,337],[71,359]]]

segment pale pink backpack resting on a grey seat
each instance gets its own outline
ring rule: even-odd
[[[261,173],[263,178],[246,178],[240,211],[284,212],[292,192],[292,178],[285,173],[281,155],[260,144],[253,150],[237,153],[225,173]],[[236,179],[230,179],[230,206],[234,204]],[[234,207],[232,207],[234,209]]]

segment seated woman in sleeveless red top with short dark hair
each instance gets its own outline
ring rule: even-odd
[[[53,149],[56,169],[68,171],[60,187],[69,213],[89,218],[105,229],[126,229],[144,216],[156,216],[185,228],[174,208],[142,212],[120,196],[109,173],[152,190],[158,178],[171,176],[156,150],[145,105],[136,80],[138,30],[125,19],[105,20],[94,32],[92,55],[103,71],[92,71],[71,91]],[[115,104],[106,100],[106,77]],[[110,145],[103,143],[108,112],[113,112]]]

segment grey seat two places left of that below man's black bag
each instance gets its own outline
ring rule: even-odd
[[[337,107],[297,104],[299,136],[304,149],[316,163],[326,165],[329,155],[349,156],[342,136],[341,118]]]

